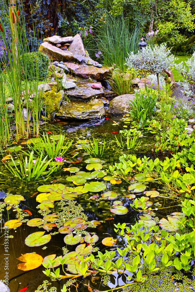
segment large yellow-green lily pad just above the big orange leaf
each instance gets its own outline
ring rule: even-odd
[[[45,231],[38,231],[30,234],[25,239],[25,244],[27,246],[41,246],[43,244],[46,244],[50,241],[51,235],[46,234],[44,235]]]

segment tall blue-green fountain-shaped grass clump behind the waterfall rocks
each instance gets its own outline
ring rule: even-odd
[[[104,65],[116,64],[121,72],[124,71],[128,53],[137,51],[139,39],[139,28],[137,26],[130,28],[128,18],[106,12],[96,37],[97,46],[103,53]]]

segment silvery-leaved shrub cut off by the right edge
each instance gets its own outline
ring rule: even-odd
[[[175,68],[181,73],[184,77],[184,81],[179,81],[178,84],[183,86],[184,94],[187,95],[189,99],[195,98],[195,51],[190,59],[183,61],[175,65]]]

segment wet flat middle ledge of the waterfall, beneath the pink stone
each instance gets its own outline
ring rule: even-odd
[[[91,86],[91,82],[79,81],[75,89],[70,89],[68,91],[67,96],[70,99],[92,99],[104,96],[102,87],[100,89],[94,89]]]

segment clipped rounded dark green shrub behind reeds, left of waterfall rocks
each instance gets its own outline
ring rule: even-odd
[[[27,79],[39,78],[45,79],[48,75],[49,57],[44,53],[32,52],[21,55],[23,67],[22,76],[24,78],[25,71]]]

